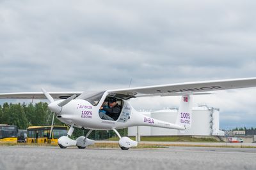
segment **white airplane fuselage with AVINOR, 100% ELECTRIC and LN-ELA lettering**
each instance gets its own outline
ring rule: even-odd
[[[83,99],[72,100],[63,106],[57,118],[61,122],[74,127],[95,130],[122,129],[138,125],[182,129],[177,125],[142,115],[129,102],[123,102],[122,111],[115,121],[100,118],[99,110],[101,105],[93,106]]]

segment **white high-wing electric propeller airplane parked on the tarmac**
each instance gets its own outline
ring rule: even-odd
[[[118,90],[105,90],[100,92],[20,92],[0,94],[0,99],[45,99],[50,101],[49,109],[56,113],[57,118],[70,126],[67,136],[58,139],[61,148],[77,146],[86,148],[94,141],[88,139],[93,130],[113,130],[120,138],[119,146],[128,150],[138,143],[128,137],[121,137],[116,129],[132,126],[152,126],[184,131],[192,124],[192,96],[210,94],[210,91],[256,87],[256,78],[241,78],[232,80],[198,81],[190,83],[176,83],[169,85],[156,85]],[[181,96],[179,114],[175,124],[157,120],[142,115],[136,111],[129,101],[136,97],[150,96]],[[54,101],[54,99],[58,99]],[[121,111],[115,117],[102,117],[100,108],[102,104],[116,101]],[[108,114],[108,113],[107,113]],[[53,123],[53,119],[52,119]],[[70,139],[74,127],[90,129],[86,136],[76,140]]]

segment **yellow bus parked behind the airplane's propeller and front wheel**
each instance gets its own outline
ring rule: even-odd
[[[51,137],[50,131],[51,126],[29,126],[27,129],[27,143],[49,143],[51,145],[58,145],[58,138],[60,138],[61,136],[67,136],[68,127],[54,125]]]

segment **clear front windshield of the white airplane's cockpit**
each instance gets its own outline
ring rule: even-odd
[[[97,106],[104,92],[84,92],[77,99],[84,99],[91,103],[93,106]]]

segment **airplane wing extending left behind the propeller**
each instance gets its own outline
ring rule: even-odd
[[[49,92],[53,99],[67,99],[76,94],[79,96],[82,92]],[[47,99],[43,92],[20,92],[20,93],[3,93],[0,99]]]

